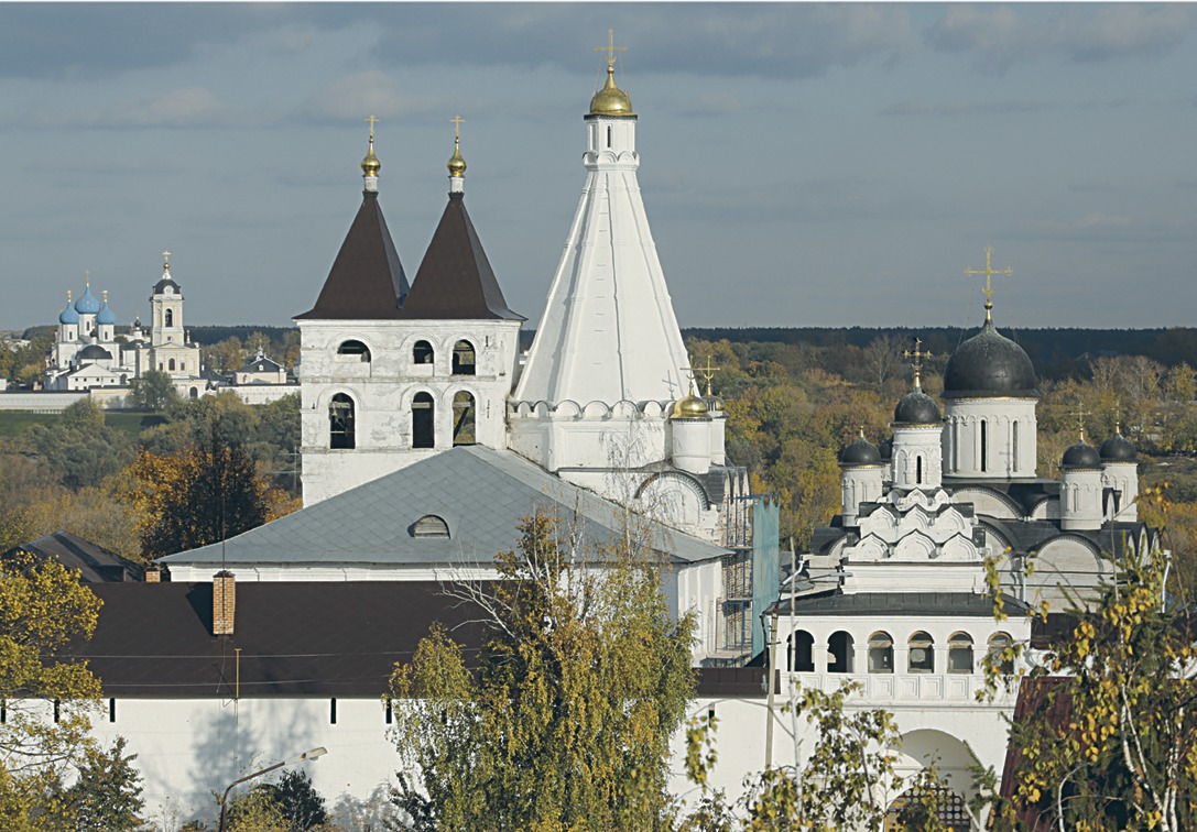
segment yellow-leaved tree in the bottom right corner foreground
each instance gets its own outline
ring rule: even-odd
[[[999,828],[1197,824],[1195,628],[1187,607],[1165,600],[1165,567],[1161,552],[1122,561],[1023,680],[1038,702],[1010,727],[1014,797],[996,802]]]

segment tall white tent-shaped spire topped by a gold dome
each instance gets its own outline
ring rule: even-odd
[[[680,399],[688,359],[636,178],[636,115],[610,65],[585,121],[582,200],[515,399]]]

